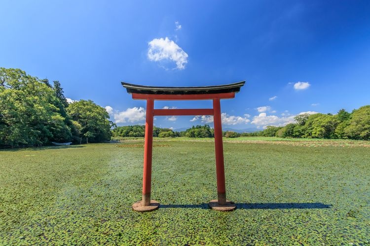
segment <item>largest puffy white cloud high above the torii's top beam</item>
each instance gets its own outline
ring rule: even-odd
[[[172,61],[177,69],[184,69],[188,55],[174,41],[166,38],[154,38],[149,43],[148,59],[154,62]]]

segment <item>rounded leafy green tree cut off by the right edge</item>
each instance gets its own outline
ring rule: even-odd
[[[370,139],[370,105],[353,111],[352,118],[344,132],[352,139]]]

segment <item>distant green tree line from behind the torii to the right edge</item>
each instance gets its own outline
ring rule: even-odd
[[[360,107],[348,113],[341,109],[332,114],[300,114],[296,123],[285,126],[266,126],[256,132],[238,133],[223,131],[226,138],[240,136],[281,137],[281,138],[325,138],[325,139],[370,139],[370,105]],[[144,125],[118,126],[112,130],[113,137],[144,137]],[[169,128],[153,127],[153,137],[189,137],[212,138],[214,130],[208,124],[192,126],[185,131],[173,131]]]

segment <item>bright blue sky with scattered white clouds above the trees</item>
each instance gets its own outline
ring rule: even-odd
[[[0,66],[59,80],[66,97],[144,123],[121,81],[205,86],[246,80],[222,126],[284,125],[301,112],[370,104],[370,1],[11,1],[0,8]],[[210,101],[156,101],[155,108]],[[156,117],[182,128],[210,117]]]

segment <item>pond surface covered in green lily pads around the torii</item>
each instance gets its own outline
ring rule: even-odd
[[[217,196],[212,139],[154,140],[161,207],[145,214],[131,210],[143,139],[1,150],[0,245],[369,243],[369,148],[279,141],[225,140],[227,196],[238,208],[229,213],[207,205]]]

